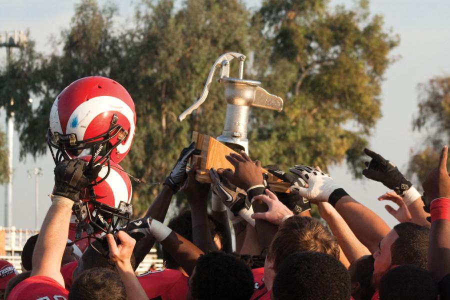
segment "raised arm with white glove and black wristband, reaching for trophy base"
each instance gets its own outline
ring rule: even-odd
[[[378,242],[390,230],[383,219],[350,197],[343,188],[334,183],[328,174],[300,164],[291,168],[290,171],[297,173],[308,183],[308,187],[291,186],[291,192],[308,198],[312,203],[329,202],[343,217],[357,239],[370,252],[376,251]]]

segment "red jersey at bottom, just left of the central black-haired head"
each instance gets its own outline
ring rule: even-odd
[[[178,270],[165,269],[149,271],[137,276],[149,299],[160,297],[161,300],[186,299],[187,277]]]

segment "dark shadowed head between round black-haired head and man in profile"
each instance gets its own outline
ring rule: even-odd
[[[372,286],[373,256],[364,255],[348,267],[351,281],[351,296],[355,300],[371,299],[375,289]]]

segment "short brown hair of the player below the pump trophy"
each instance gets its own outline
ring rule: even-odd
[[[334,235],[319,220],[294,215],[286,219],[276,231],[267,258],[278,271],[281,261],[295,252],[322,252],[339,258],[339,246]]]

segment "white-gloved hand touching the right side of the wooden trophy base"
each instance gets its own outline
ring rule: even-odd
[[[307,165],[297,164],[289,169],[292,173],[300,176],[308,187],[295,186],[290,187],[291,192],[309,199],[311,202],[328,201],[330,195],[335,190],[341,190],[340,196],[347,194],[343,189],[334,183],[333,179],[326,173]],[[336,199],[337,201],[338,199]]]

